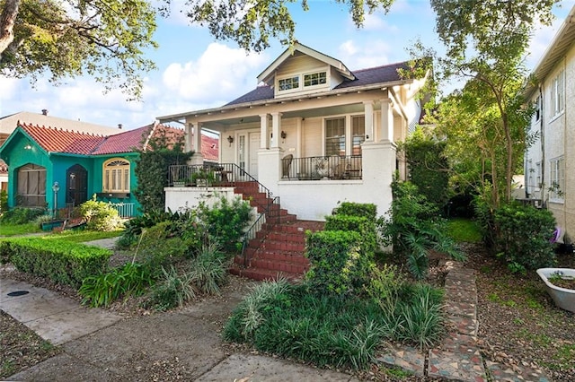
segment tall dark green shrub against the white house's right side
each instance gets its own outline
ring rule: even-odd
[[[417,186],[421,195],[430,203],[441,208],[447,202],[449,165],[444,155],[445,141],[438,141],[426,135],[418,127],[404,143],[409,179]]]

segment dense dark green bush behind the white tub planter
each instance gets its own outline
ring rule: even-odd
[[[505,204],[493,215],[496,251],[501,253],[514,273],[552,266],[553,213],[531,205]]]

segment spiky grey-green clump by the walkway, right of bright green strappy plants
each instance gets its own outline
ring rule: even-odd
[[[186,301],[196,298],[196,289],[190,273],[180,274],[173,266],[169,271],[162,267],[162,273],[163,277],[155,284],[150,299],[146,301],[146,307],[165,311],[181,307]]]

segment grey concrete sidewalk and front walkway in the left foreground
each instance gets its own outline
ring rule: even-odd
[[[19,291],[28,293],[9,296]],[[123,318],[105,309],[84,308],[53,291],[0,278],[0,308],[64,349],[8,380],[136,381],[166,376],[203,382],[358,380],[287,360],[226,352],[219,334],[221,320],[242,297],[242,292],[232,292],[174,312]]]

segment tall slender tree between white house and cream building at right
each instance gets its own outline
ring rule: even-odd
[[[457,165],[479,169],[491,208],[511,199],[512,178],[529,142],[533,109],[524,107],[523,63],[535,22],[553,20],[557,0],[430,0],[447,55],[440,77],[464,79],[464,89],[444,100],[433,122],[447,136],[447,154]],[[471,161],[476,158],[478,167]],[[473,171],[471,171],[473,172]]]

